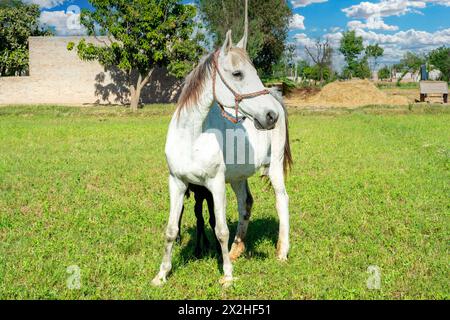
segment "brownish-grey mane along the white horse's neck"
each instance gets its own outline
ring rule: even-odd
[[[211,53],[204,57],[197,67],[186,77],[183,90],[178,99],[177,112],[178,114],[184,108],[194,106],[198,103],[200,93],[203,91],[205,77],[211,72],[213,67],[214,54]]]

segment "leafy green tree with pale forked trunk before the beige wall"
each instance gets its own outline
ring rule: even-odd
[[[193,36],[196,9],[180,0],[90,0],[94,10],[82,10],[80,22],[88,35],[104,35],[96,45],[82,39],[76,46],[82,60],[97,60],[122,70],[136,111],[142,88],[156,67],[183,77],[204,53],[202,35]],[[73,49],[70,43],[68,49]]]

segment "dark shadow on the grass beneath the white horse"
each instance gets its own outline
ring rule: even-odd
[[[238,222],[233,222],[229,224],[230,230],[230,241],[228,248],[231,248],[231,245],[234,241],[234,235],[236,234]],[[203,248],[203,254],[201,257],[197,258],[195,256],[195,246],[197,240],[197,229],[196,227],[190,227],[187,230],[181,230],[182,237],[188,233],[190,235],[189,242],[187,244],[181,244],[181,252],[179,253],[179,263],[174,267],[179,267],[184,264],[188,264],[191,261],[200,259],[217,259],[217,267],[222,272],[222,254],[218,252],[215,245],[215,238],[211,227],[206,228],[206,235],[209,241],[209,247]],[[274,250],[275,245],[278,240],[278,221],[275,218],[261,218],[250,220],[250,225],[248,228],[247,238],[245,240],[246,251],[244,253],[245,258],[247,259],[268,259],[269,256],[265,252],[258,251],[258,244],[264,241],[270,241],[273,244]],[[180,244],[178,244],[180,245]]]

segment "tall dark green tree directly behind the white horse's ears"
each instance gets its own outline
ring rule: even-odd
[[[244,30],[244,0],[196,0],[203,20],[220,45],[226,32],[233,30],[235,40]],[[263,75],[272,75],[272,67],[281,60],[289,32],[292,10],[287,1],[249,1],[249,40],[247,50],[255,67]]]

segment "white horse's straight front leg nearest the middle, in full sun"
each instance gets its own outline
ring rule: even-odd
[[[211,191],[214,200],[214,215],[216,218],[216,226],[214,231],[222,250],[224,276],[220,280],[220,283],[224,287],[228,287],[233,282],[233,266],[231,264],[228,251],[230,232],[228,230],[226,219],[227,204],[225,193],[225,176],[222,174],[219,177],[211,179],[207,183],[207,188]]]

